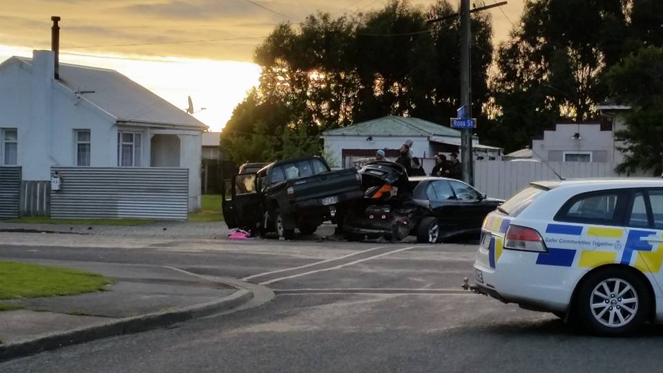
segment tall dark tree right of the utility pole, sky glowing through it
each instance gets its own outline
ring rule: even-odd
[[[595,116],[607,95],[604,68],[622,56],[624,11],[621,0],[526,1],[519,25],[499,46],[492,83],[492,134],[503,136],[506,149],[526,145],[560,118]],[[516,138],[506,138],[515,128]]]

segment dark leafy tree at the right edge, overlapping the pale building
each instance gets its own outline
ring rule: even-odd
[[[620,173],[652,170],[662,172],[663,160],[663,48],[642,48],[607,73],[607,82],[617,102],[629,104],[626,129],[616,135],[624,139],[624,162]]]

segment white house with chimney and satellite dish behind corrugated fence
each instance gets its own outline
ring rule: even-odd
[[[52,166],[189,169],[200,207],[206,126],[115,70],[59,64],[50,50],[0,64],[0,166],[49,180]],[[164,77],[167,79],[167,77]]]

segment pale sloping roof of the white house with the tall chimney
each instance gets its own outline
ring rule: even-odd
[[[12,57],[32,66],[32,59]],[[167,79],[167,77],[166,77]],[[80,96],[117,122],[166,124],[204,130],[207,126],[165,99],[115,70],[59,64],[59,83],[72,90],[94,91]]]

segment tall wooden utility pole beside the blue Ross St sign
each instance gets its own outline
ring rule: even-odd
[[[470,0],[461,0],[461,107],[465,106],[466,115],[472,117],[470,97]],[[472,153],[472,135],[474,128],[461,129],[461,161],[463,162],[463,181],[474,185],[474,155]]]

